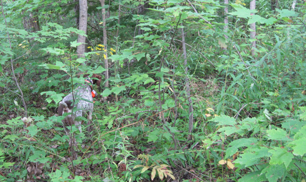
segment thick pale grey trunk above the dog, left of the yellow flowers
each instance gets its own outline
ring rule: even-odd
[[[80,18],[79,18],[79,30],[82,30],[87,33],[87,0],[79,0],[80,5]],[[78,42],[82,42],[83,44],[77,47],[78,58],[85,58],[85,36],[78,36]]]

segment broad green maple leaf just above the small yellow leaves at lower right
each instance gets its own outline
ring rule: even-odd
[[[238,140],[234,140],[233,142],[228,144],[228,146],[231,146],[231,147],[228,147],[226,149],[226,154],[225,154],[224,159],[227,159],[231,157],[232,155],[234,155],[238,151],[238,148],[249,147],[251,145],[254,145],[255,143],[257,143],[256,138],[241,138]]]

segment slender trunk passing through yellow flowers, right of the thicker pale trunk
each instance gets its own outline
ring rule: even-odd
[[[101,7],[105,6],[105,0],[99,0]],[[105,12],[105,8],[102,8],[102,21],[103,21],[103,44],[104,44],[104,48],[105,50],[107,50],[107,32],[106,32],[106,12]],[[104,66],[105,66],[105,87],[108,88],[109,87],[109,70],[108,70],[108,56],[107,56],[107,51],[104,52],[105,55],[105,59],[104,59]]]

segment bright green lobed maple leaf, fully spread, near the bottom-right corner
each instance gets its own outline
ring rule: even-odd
[[[293,158],[293,154],[288,152],[286,148],[275,147],[273,150],[269,150],[272,153],[272,157],[270,159],[270,164],[285,164],[286,168],[290,164]]]

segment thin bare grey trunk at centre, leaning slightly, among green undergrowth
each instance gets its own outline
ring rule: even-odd
[[[183,27],[183,23],[181,24]],[[193,128],[193,107],[192,107],[192,100],[190,98],[190,86],[189,86],[189,78],[188,78],[188,67],[187,67],[187,52],[186,52],[186,44],[185,44],[185,34],[184,29],[181,28],[182,31],[182,46],[183,46],[183,55],[184,55],[184,66],[185,66],[185,84],[186,84],[186,95],[188,97],[189,102],[189,136],[188,139],[191,139],[191,133]]]

